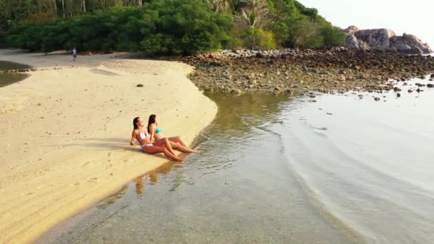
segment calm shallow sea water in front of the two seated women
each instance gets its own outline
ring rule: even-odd
[[[210,93],[219,111],[199,153],[39,243],[430,243],[434,88],[408,93],[415,82],[400,98],[349,92],[316,103]]]

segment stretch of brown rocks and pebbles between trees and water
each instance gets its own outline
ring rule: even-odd
[[[404,56],[383,51],[233,50],[181,58],[196,67],[191,80],[199,88],[241,94],[246,91],[303,94],[312,92],[390,91],[396,81],[426,78],[432,87],[432,56]],[[396,90],[396,88],[395,88]]]

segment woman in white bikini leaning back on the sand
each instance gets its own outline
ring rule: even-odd
[[[133,119],[133,133],[131,134],[130,145],[133,146],[135,140],[140,143],[141,151],[143,153],[156,154],[156,153],[164,153],[168,158],[173,161],[182,161],[181,158],[173,153],[173,149],[171,147],[171,143],[167,138],[160,138],[156,141],[151,141],[151,137],[149,136],[146,129],[143,127],[143,121],[140,117],[136,117]]]

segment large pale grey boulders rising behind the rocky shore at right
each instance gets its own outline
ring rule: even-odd
[[[393,51],[402,54],[430,54],[428,44],[423,44],[416,36],[403,34],[397,36],[389,29],[360,30],[355,26],[345,29],[348,49]]]

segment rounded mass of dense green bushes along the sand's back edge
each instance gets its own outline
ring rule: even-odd
[[[9,31],[7,44],[30,50],[72,49],[190,54],[231,44],[233,20],[200,0],[159,0],[116,7],[58,22],[26,24]]]

